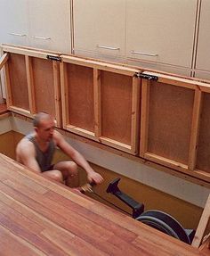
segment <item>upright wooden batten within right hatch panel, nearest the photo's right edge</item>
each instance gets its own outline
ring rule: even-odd
[[[195,90],[195,98],[192,112],[192,125],[190,134],[190,152],[189,152],[189,169],[193,170],[196,167],[199,121],[202,105],[202,92],[199,89]]]

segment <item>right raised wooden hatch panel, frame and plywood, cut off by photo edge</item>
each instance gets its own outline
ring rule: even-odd
[[[158,82],[142,79],[140,156],[209,181],[210,147],[205,145],[206,133],[210,144],[209,85],[145,74],[156,75]]]

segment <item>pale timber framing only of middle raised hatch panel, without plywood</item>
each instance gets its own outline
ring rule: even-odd
[[[138,70],[118,66],[115,64],[97,62],[93,60],[86,60],[83,58],[61,55],[61,98],[62,98],[62,120],[63,128],[78,135],[89,137],[93,140],[101,142],[105,145],[113,146],[117,149],[123,150],[127,153],[136,154],[138,151],[138,127],[139,127],[139,111],[140,111],[140,79],[135,78],[135,73]],[[68,86],[68,70],[67,66],[73,64],[76,69],[79,67],[89,68],[92,73],[93,81],[93,130],[90,131],[85,128],[79,128],[72,124],[69,120],[69,86]],[[132,80],[132,109],[131,117],[131,139],[130,144],[125,144],[115,139],[103,136],[102,134],[102,119],[101,119],[101,73],[105,71],[112,74],[129,77]],[[79,73],[77,74],[79,76]],[[77,87],[77,85],[75,85]]]

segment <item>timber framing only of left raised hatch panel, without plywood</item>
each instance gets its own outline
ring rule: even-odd
[[[28,101],[28,108],[17,106],[14,103],[12,97],[12,86],[15,87],[15,83],[12,84],[11,73],[12,65],[9,61],[4,63],[4,73],[5,73],[5,82],[6,82],[6,103],[7,108],[16,113],[20,113],[26,115],[28,117],[33,117],[33,115],[38,111],[38,102],[36,101],[36,85],[35,85],[35,74],[36,67],[33,67],[33,61],[36,59],[42,65],[42,62],[49,62],[49,67],[52,67],[51,74],[44,74],[52,76],[52,90],[53,90],[53,99],[52,103],[54,111],[52,115],[55,116],[57,121],[57,126],[61,127],[61,88],[60,88],[60,66],[59,62],[47,60],[48,56],[59,57],[58,54],[52,54],[50,52],[38,51],[36,49],[30,48],[22,48],[22,47],[13,47],[10,45],[3,45],[4,53],[7,54],[7,60],[10,60],[12,56],[17,57],[16,66],[19,66],[19,69],[22,70],[26,75],[26,87],[25,90],[28,90],[28,98],[24,100]],[[21,58],[22,63],[19,62]],[[47,61],[46,61],[47,60]],[[39,78],[40,79],[40,78]],[[18,89],[18,88],[17,88]],[[24,88],[23,88],[24,89]],[[38,100],[44,100],[44,97],[47,95],[43,95],[43,98],[39,98]],[[43,110],[44,111],[44,110]]]

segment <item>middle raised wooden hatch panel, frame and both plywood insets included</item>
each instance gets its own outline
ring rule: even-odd
[[[138,153],[138,70],[61,55],[63,127],[128,153]]]

